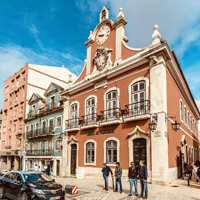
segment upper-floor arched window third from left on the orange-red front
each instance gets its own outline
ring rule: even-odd
[[[117,117],[117,91],[113,90],[108,92],[107,94],[107,112],[106,118],[107,120],[113,119]]]

